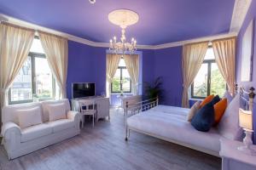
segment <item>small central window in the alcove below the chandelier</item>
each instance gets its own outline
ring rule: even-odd
[[[114,74],[111,93],[131,93],[131,78],[126,69],[125,59],[120,59],[119,67]]]

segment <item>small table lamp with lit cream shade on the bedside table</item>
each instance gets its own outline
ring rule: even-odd
[[[255,155],[256,152],[251,148],[253,144],[253,114],[252,111],[244,111],[239,109],[239,126],[243,128],[246,136],[243,139],[243,146],[239,146],[237,149],[241,150],[249,155]]]

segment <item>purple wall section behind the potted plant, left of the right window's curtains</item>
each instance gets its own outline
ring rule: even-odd
[[[163,78],[162,105],[181,106],[183,93],[182,47],[154,51],[154,78]]]

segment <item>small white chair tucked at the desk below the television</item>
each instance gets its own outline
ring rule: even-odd
[[[82,127],[84,127],[84,116],[92,116],[92,126],[94,127],[94,118],[96,116],[95,100],[88,99],[80,102],[80,111],[82,115]]]

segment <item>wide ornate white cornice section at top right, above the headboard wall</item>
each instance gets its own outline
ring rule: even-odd
[[[238,33],[240,31],[251,3],[252,0],[236,0],[232,14],[230,32]]]

